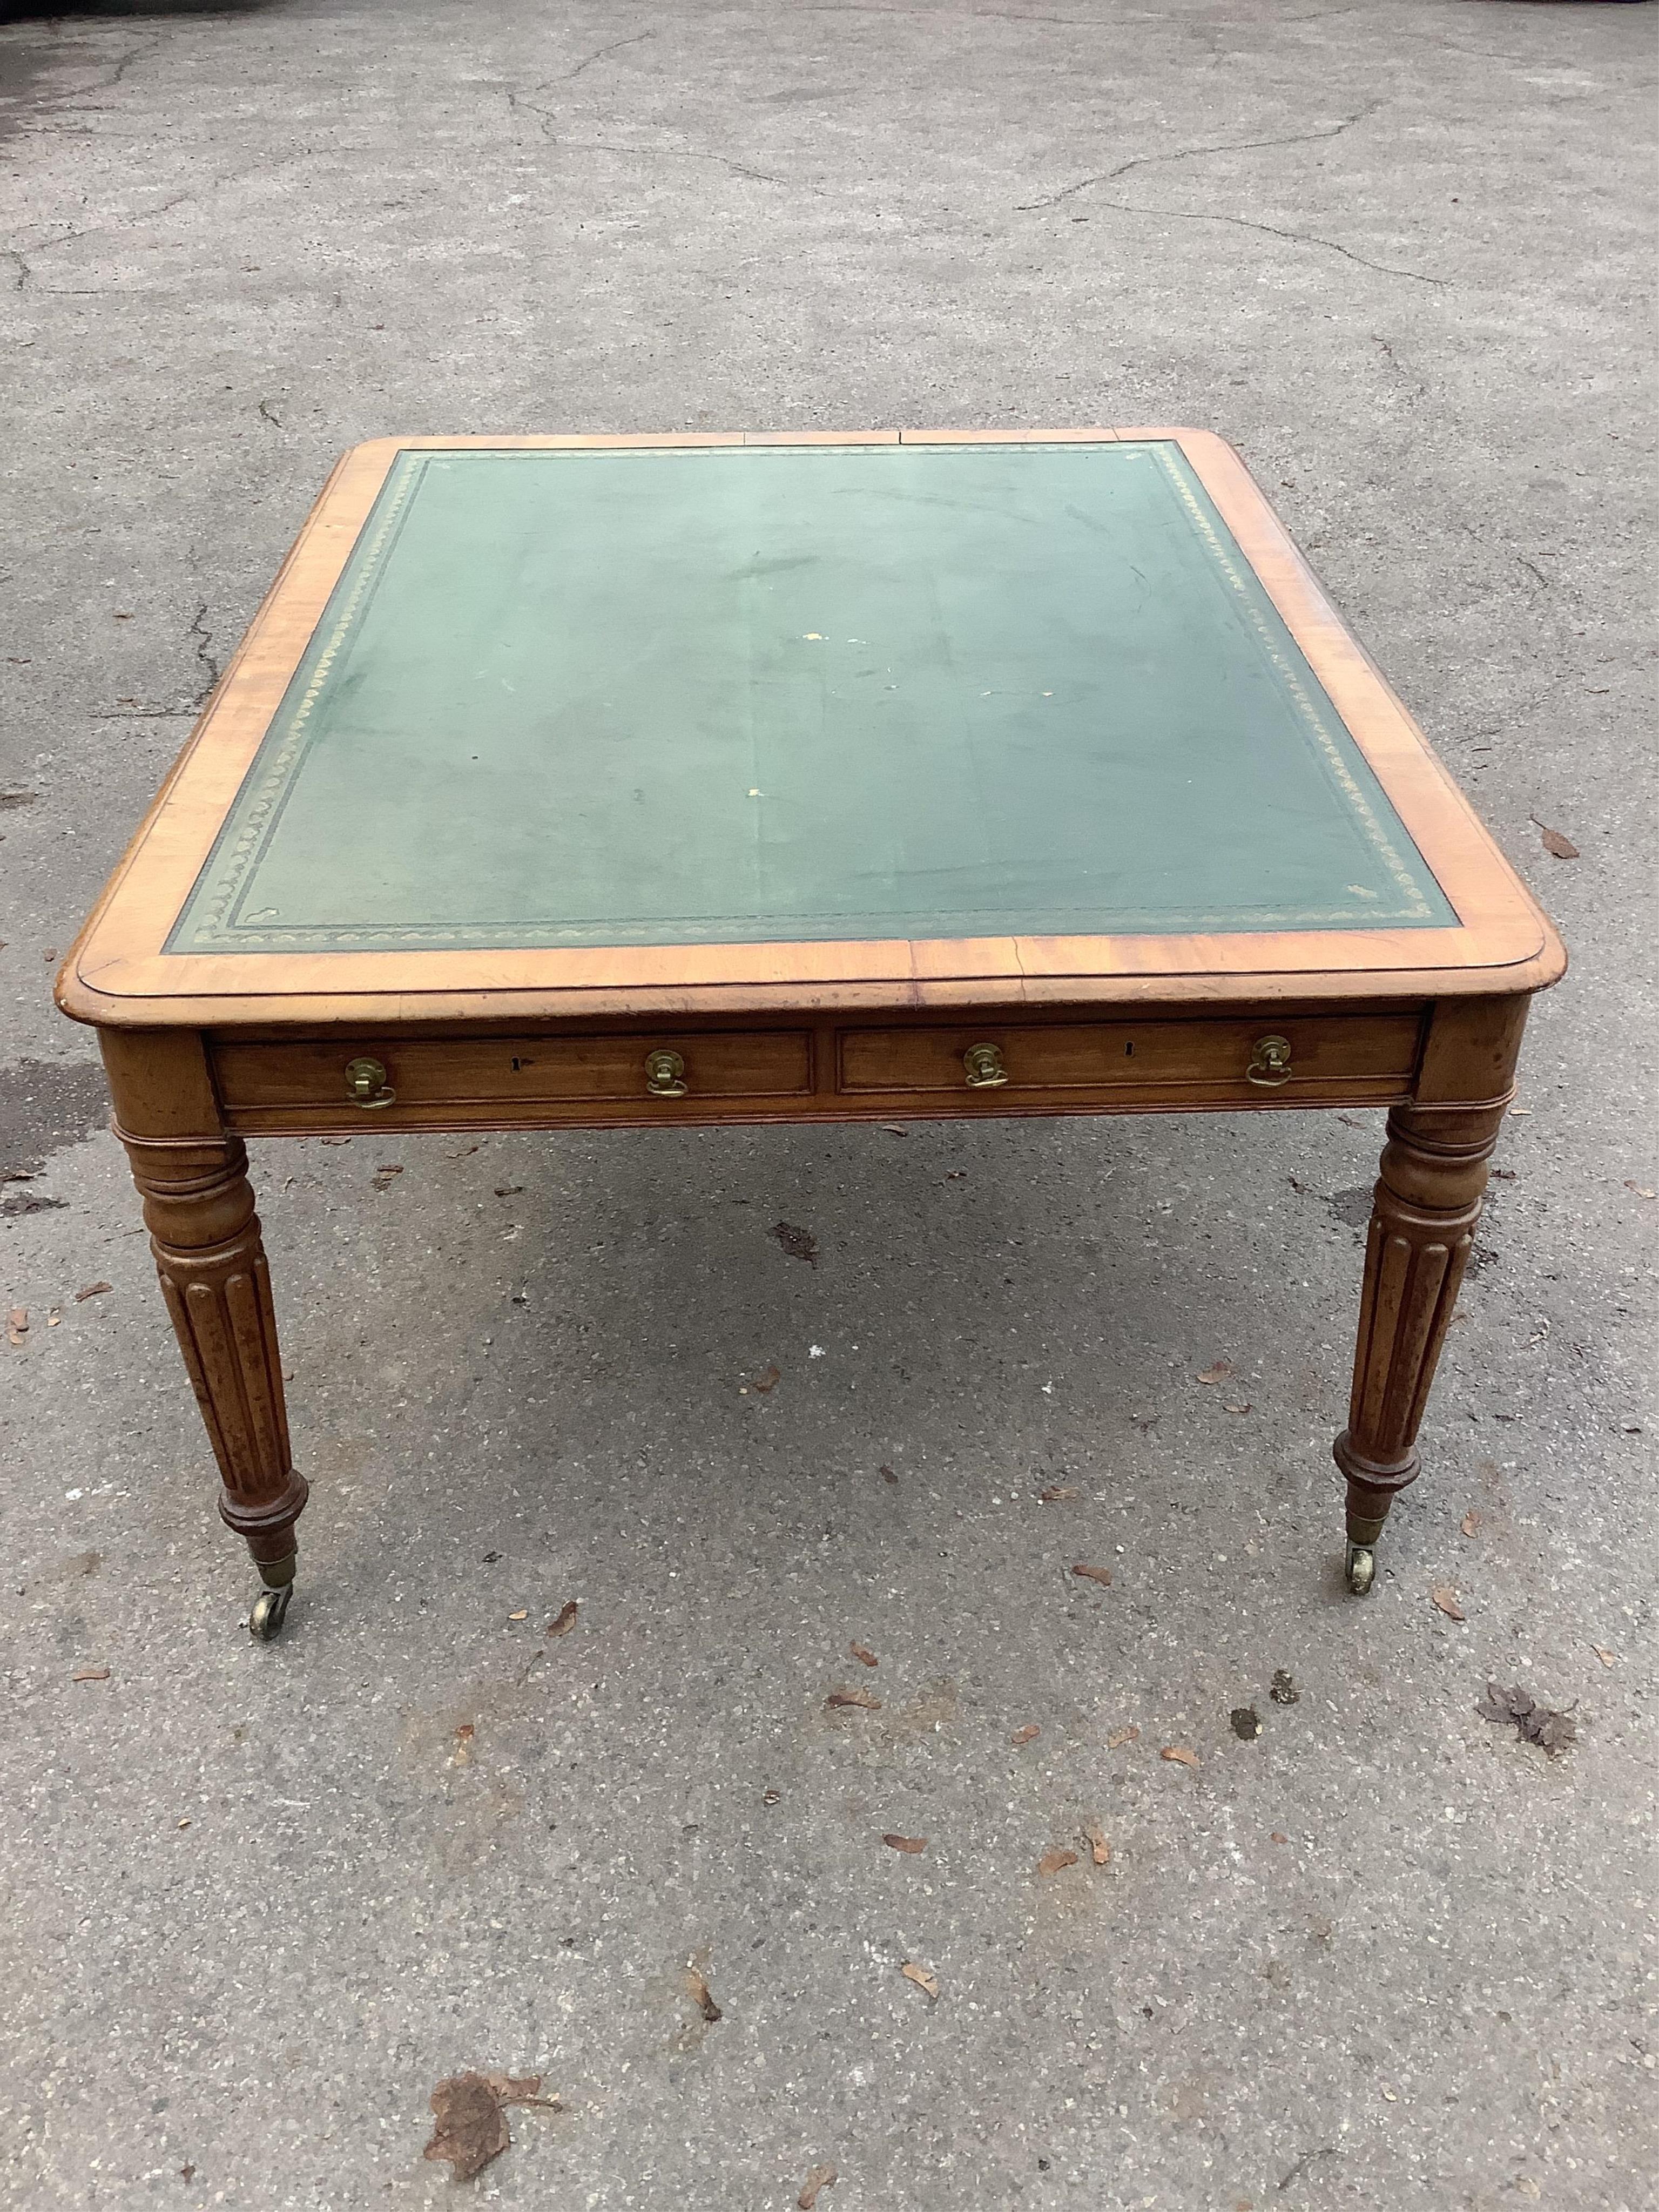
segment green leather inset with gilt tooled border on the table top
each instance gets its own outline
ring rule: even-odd
[[[1453,925],[1168,440],[467,449],[168,951]]]

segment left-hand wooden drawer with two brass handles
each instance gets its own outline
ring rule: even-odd
[[[666,1055],[659,1060],[657,1055]],[[374,1108],[369,1082],[354,1099],[347,1066],[376,1062],[396,1119],[434,1106],[626,1106],[670,1117],[703,1099],[783,1099],[812,1091],[807,1031],[697,1031],[611,1037],[363,1037],[237,1042],[212,1046],[219,1097],[230,1115]],[[650,1066],[648,1066],[650,1062]],[[361,1077],[363,1079],[363,1077]]]

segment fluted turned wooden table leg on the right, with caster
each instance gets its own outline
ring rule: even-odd
[[[1504,1104],[1396,1106],[1365,1248],[1347,1429],[1347,1582],[1371,1586],[1374,1546],[1418,1475],[1418,1427],[1451,1325]]]

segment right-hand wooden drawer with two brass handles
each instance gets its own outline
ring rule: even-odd
[[[1420,1026],[1416,1013],[1383,1013],[845,1029],[836,1084],[849,1095],[953,1091],[987,1106],[1013,1106],[1022,1093],[1037,1091],[1062,1097],[1159,1088],[1214,1093],[1232,1084],[1243,1099],[1305,1097],[1325,1084],[1376,1084],[1387,1093],[1416,1071]],[[1279,1051],[1274,1040],[1290,1051]],[[969,1057],[975,1057],[978,1084]]]

